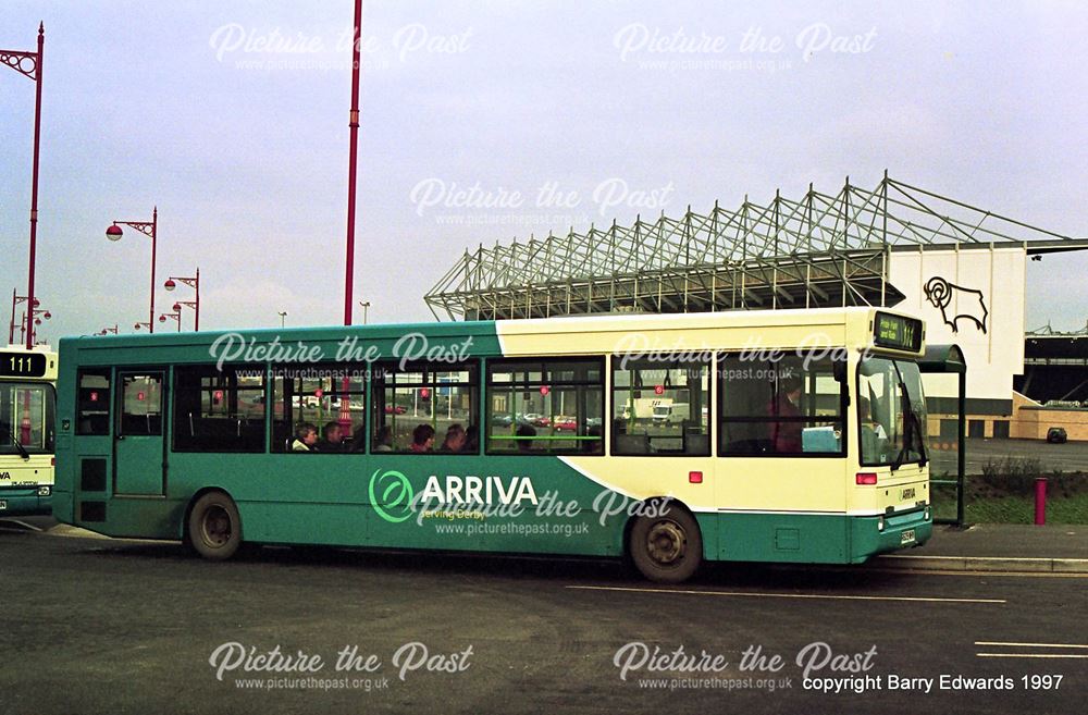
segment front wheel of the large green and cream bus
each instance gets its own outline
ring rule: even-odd
[[[635,517],[628,551],[651,581],[680,583],[703,563],[703,535],[690,513],[672,506],[654,517]]]

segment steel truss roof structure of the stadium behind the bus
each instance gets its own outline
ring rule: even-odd
[[[528,243],[466,250],[424,296],[435,318],[494,320],[601,312],[893,306],[892,250],[1031,242],[1050,252],[1075,239],[888,177],[869,190],[848,177],[834,195],[745,196],[735,210],[607,230],[573,229]]]

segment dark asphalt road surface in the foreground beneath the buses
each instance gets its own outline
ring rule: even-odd
[[[1088,695],[1085,575],[715,565],[666,588],[607,560],[259,548],[213,564],[65,533],[0,530],[2,713],[993,715],[1081,712]],[[322,667],[245,670],[248,649],[276,646]],[[372,671],[337,671],[345,648]],[[777,669],[741,669],[754,649]],[[809,665],[846,690],[806,689]]]

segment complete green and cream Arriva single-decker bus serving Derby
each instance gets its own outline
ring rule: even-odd
[[[923,333],[844,308],[65,338],[54,515],[213,559],[860,564],[931,532]]]

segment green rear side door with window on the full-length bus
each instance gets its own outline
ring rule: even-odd
[[[118,496],[166,493],[164,385],[164,370],[118,372],[118,421],[113,433],[113,493]]]

